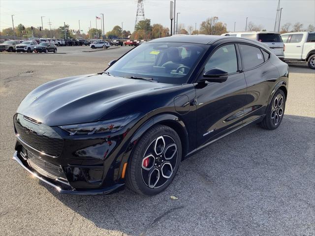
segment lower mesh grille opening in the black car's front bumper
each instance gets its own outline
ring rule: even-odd
[[[31,151],[28,151],[28,161],[30,166],[37,171],[40,175],[49,177],[49,178],[58,178],[62,174],[62,168],[56,166],[52,163],[44,161],[39,156],[35,155]]]

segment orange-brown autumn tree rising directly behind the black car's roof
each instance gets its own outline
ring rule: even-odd
[[[200,34],[220,35],[226,33],[226,24],[218,21],[218,17],[209,17],[200,24]]]

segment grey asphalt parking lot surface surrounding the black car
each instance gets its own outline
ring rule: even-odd
[[[246,126],[181,163],[161,194],[60,195],[11,160],[13,115],[37,86],[100,72],[131,47],[0,53],[0,235],[315,236],[315,71],[290,65],[281,126]],[[172,200],[170,196],[178,199]]]

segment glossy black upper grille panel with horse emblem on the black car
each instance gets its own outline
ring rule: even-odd
[[[62,137],[51,127],[42,123],[36,124],[29,120],[21,114],[14,116],[14,126],[19,138],[39,151],[59,156],[63,150]]]

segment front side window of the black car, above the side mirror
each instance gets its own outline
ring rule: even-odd
[[[215,67],[229,74],[237,72],[237,56],[234,44],[224,45],[217,49],[205,65],[205,71]]]

